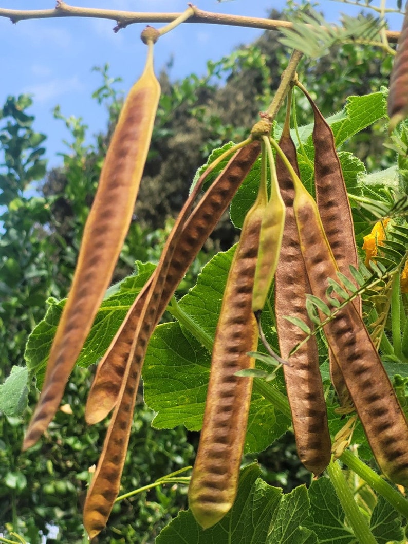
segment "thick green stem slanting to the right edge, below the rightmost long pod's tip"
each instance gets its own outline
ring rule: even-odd
[[[399,491],[395,490],[394,487],[374,472],[372,468],[368,467],[360,458],[353,455],[350,450],[344,450],[340,459],[352,471],[358,474],[360,478],[366,481],[374,491],[388,500],[397,512],[408,518],[408,500]]]

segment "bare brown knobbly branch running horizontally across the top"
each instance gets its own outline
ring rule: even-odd
[[[194,16],[190,17],[186,23],[206,23],[206,24],[225,24],[228,26],[259,28],[263,30],[279,30],[280,28],[293,28],[289,21],[280,21],[276,19],[264,19],[261,17],[244,17],[241,15],[226,15],[213,13],[212,11],[203,11],[193,7]],[[134,23],[166,23],[180,17],[181,13],[144,13],[137,11],[118,11],[114,9],[93,9],[78,8],[66,4],[62,0],[57,0],[55,9],[39,10],[17,10],[0,8],[0,17],[7,17],[12,23],[26,21],[28,19],[51,19],[60,17],[91,17],[100,19],[110,19],[116,21],[114,32]],[[399,32],[387,30],[387,39],[389,42],[398,41]]]

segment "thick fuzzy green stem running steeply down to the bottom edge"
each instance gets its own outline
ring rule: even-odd
[[[360,544],[377,544],[366,519],[354,500],[353,493],[344,478],[338,461],[331,461],[327,467],[327,472],[358,542]]]

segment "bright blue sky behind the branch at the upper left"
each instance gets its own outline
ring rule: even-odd
[[[379,0],[373,2],[378,4]],[[132,11],[181,12],[187,0],[76,0],[81,7]],[[281,9],[283,0],[196,0],[202,10],[237,15],[265,17],[271,8]],[[10,9],[53,9],[54,0],[0,0],[0,7]],[[396,1],[388,0],[388,7]],[[332,0],[320,2],[329,21],[337,21],[339,12],[355,14],[356,8]],[[392,26],[400,28],[401,16]],[[157,24],[157,27],[160,25]],[[112,77],[121,77],[121,89],[127,91],[143,69],[145,46],[139,35],[143,24],[129,26],[115,34],[113,21],[91,18],[61,18],[21,21],[11,24],[0,17],[0,45],[3,51],[3,77],[0,101],[9,95],[28,92],[34,95],[30,113],[35,115],[35,129],[48,135],[47,158],[50,165],[61,162],[58,152],[66,150],[61,140],[69,137],[64,123],[55,120],[57,104],[64,116],[82,117],[89,126],[89,138],[106,127],[103,107],[91,99],[101,83],[93,66],[109,63]],[[155,48],[158,73],[170,58],[174,59],[170,77],[182,78],[191,72],[206,72],[209,59],[218,60],[240,44],[248,44],[262,30],[209,24],[184,24],[160,38]]]

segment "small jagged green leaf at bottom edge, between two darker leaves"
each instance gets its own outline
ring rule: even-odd
[[[306,527],[310,499],[305,486],[283,495],[274,517],[268,544],[318,544],[316,533]]]

